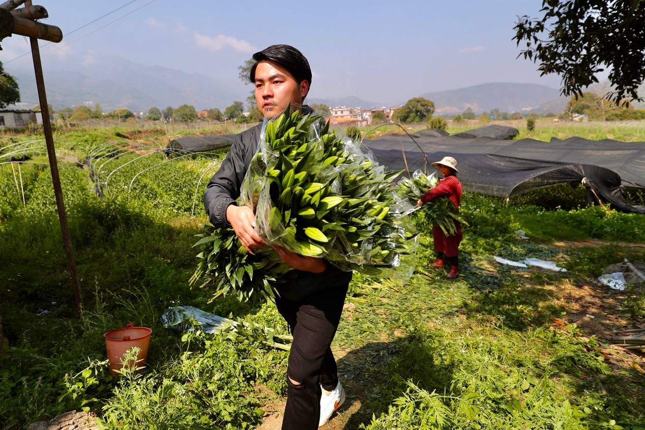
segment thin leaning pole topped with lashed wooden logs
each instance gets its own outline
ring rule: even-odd
[[[25,4],[24,8],[14,10],[17,6],[22,5],[23,3]],[[70,270],[70,278],[72,281],[72,287],[74,288],[76,305],[79,310],[82,311],[83,298],[81,297],[81,286],[79,285],[78,275],[76,272],[76,262],[74,260],[74,251],[72,250],[72,238],[67,225],[63,189],[61,188],[61,178],[58,173],[58,163],[54,148],[54,136],[52,134],[52,124],[50,123],[49,106],[47,105],[45,79],[43,78],[43,66],[41,63],[40,48],[38,46],[39,39],[55,43],[60,42],[63,40],[63,32],[57,26],[32,21],[33,19],[41,19],[48,16],[49,14],[43,6],[33,6],[31,0],[5,1],[5,3],[0,5],[0,40],[5,37],[12,36],[12,34],[29,37],[32,48],[32,57],[34,59],[34,73],[36,78],[36,87],[38,89],[38,99],[41,107],[41,116],[43,117],[43,132],[45,133],[45,142],[47,145],[47,157],[49,159],[52,183],[54,185],[54,196],[56,198],[56,207],[58,209],[58,219],[61,223],[61,233],[63,234],[67,265]]]

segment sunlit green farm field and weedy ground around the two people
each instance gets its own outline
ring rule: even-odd
[[[519,128],[518,138],[645,141],[639,121],[541,120],[533,132],[526,121],[499,123]],[[479,125],[449,123],[448,131]],[[94,413],[108,429],[279,428],[286,351],[253,338],[176,333],[159,320],[168,307],[192,305],[287,334],[273,303],[210,302],[208,289],[188,286],[194,236],[208,222],[201,194],[226,151],[165,162],[161,150],[177,133],[212,130],[57,133],[82,314],[42,136],[0,136],[0,316],[10,343],[0,354],[0,429],[72,410]],[[12,152],[31,159],[20,169],[3,164]],[[105,156],[112,152],[120,156]],[[593,282],[623,258],[645,261],[645,217],[582,207],[584,196],[568,186],[508,202],[464,193],[470,226],[454,281],[428,267],[432,227],[417,212],[412,279],[353,278],[332,344],[348,401],[324,428],[645,429],[642,351],[602,342],[645,324],[645,292]],[[517,238],[520,229],[529,240]],[[511,268],[493,256],[543,258],[567,271]],[[126,323],[154,333],[143,371],[117,379],[107,373],[102,334]]]

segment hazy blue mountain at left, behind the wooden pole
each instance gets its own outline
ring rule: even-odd
[[[37,105],[33,68],[6,68],[18,80],[23,100],[19,106]],[[223,109],[233,100],[243,101],[248,92],[235,76],[218,81],[205,74],[141,65],[119,57],[102,57],[78,68],[52,65],[45,70],[45,84],[54,108],[101,103],[104,111],[163,109],[184,103],[198,110]]]

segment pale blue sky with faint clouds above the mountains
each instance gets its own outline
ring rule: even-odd
[[[137,0],[97,23],[48,45],[46,67],[67,67],[101,56],[208,74],[239,87],[237,67],[255,50],[288,43],[308,57],[310,97],[401,99],[486,82],[529,82],[559,87],[537,66],[516,58],[511,41],[517,15],[537,16],[539,0],[251,2]],[[128,0],[41,0],[66,34]],[[144,5],[144,6],[143,6]],[[179,5],[179,6],[177,6]],[[127,12],[94,34],[83,36]],[[69,45],[70,41],[74,41]],[[23,37],[2,43],[0,61],[28,52]],[[6,69],[30,66],[30,56]]]

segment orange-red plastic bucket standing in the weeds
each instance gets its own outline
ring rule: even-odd
[[[128,349],[134,347],[141,349],[137,354],[137,360],[144,360],[138,364],[139,366],[143,365],[148,356],[150,334],[152,334],[152,329],[134,327],[132,324],[126,325],[123,329],[110,330],[104,333],[105,347],[108,350],[108,360],[110,360],[110,373],[117,374],[115,371],[123,367],[121,363],[123,363],[124,354]]]

